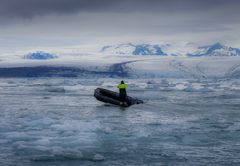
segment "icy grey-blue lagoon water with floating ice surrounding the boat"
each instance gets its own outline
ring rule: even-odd
[[[240,80],[127,79],[142,105],[97,101],[119,79],[0,80],[0,165],[240,165]]]

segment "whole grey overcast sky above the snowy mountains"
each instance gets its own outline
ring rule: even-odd
[[[0,0],[0,47],[222,42],[240,48],[240,0]]]

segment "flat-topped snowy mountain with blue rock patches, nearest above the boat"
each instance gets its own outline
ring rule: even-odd
[[[119,44],[113,46],[104,46],[100,53],[109,55],[167,55],[159,45],[151,44]]]

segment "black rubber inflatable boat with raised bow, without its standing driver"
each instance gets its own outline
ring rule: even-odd
[[[120,100],[120,96],[118,93],[107,90],[107,89],[103,89],[103,88],[95,89],[94,97],[96,97],[97,100],[102,101],[104,103],[110,103],[110,104],[124,106],[124,107],[129,107],[133,104],[143,103],[142,100],[127,96],[125,100],[126,103],[123,104]]]

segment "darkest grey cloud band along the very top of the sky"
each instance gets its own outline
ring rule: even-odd
[[[239,0],[0,0],[0,17],[32,18],[75,12],[191,12],[222,6],[231,13]]]

